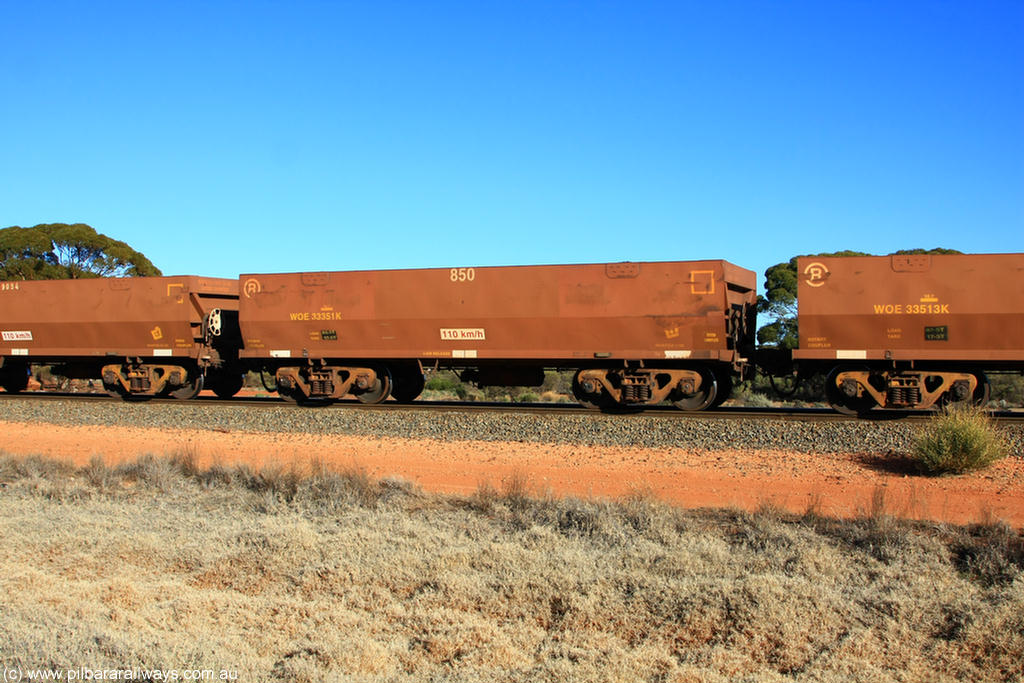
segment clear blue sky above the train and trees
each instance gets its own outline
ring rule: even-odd
[[[0,0],[0,226],[222,276],[1024,252],[1022,86],[1022,0]]]

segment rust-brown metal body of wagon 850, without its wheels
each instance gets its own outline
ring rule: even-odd
[[[246,274],[242,357],[732,362],[756,283],[720,260]]]

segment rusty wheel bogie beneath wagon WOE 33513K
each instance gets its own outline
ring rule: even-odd
[[[936,405],[969,400],[984,394],[979,378],[970,373],[943,371],[879,372],[848,370],[835,373],[828,380],[833,395],[841,405],[864,407],[873,402],[886,410],[928,410]]]

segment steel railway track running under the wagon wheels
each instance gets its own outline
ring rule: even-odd
[[[104,393],[71,393],[54,391],[26,391],[18,394],[0,392],[0,400],[57,400],[73,399],[85,401],[120,401],[120,398],[109,396]],[[174,398],[153,398],[144,401],[155,404],[182,404],[182,401]],[[212,395],[201,395],[190,402],[204,407],[223,408],[246,408],[260,410],[289,410],[289,411],[399,411],[415,413],[445,413],[454,412],[466,413],[510,413],[517,415],[544,415],[544,416],[587,416],[587,415],[615,415],[624,419],[630,416],[657,417],[666,420],[783,420],[797,422],[889,422],[889,421],[927,421],[932,415],[928,411],[918,412],[877,412],[866,417],[855,417],[836,413],[827,408],[749,408],[749,407],[723,407],[714,411],[699,411],[688,413],[680,411],[672,405],[644,407],[635,410],[612,411],[610,413],[599,413],[591,409],[584,408],[578,403],[514,403],[498,401],[460,401],[460,400],[417,400],[412,403],[396,403],[386,401],[380,404],[366,404],[357,400],[339,400],[324,405],[296,405],[278,396],[236,396],[234,398],[221,399]],[[1020,423],[1024,421],[1024,410],[995,411],[992,418],[996,424]]]

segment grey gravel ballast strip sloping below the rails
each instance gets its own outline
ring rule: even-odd
[[[751,449],[801,453],[906,452],[920,421],[836,421],[800,419],[717,419],[657,414],[551,415],[480,410],[409,411],[291,405],[245,407],[215,401],[130,403],[106,398],[36,399],[2,403],[10,422],[57,425],[113,425],[165,429],[294,432],[427,438],[445,441],[525,441],[633,447],[716,451]],[[1011,455],[1024,452],[1024,424],[999,426]]]

